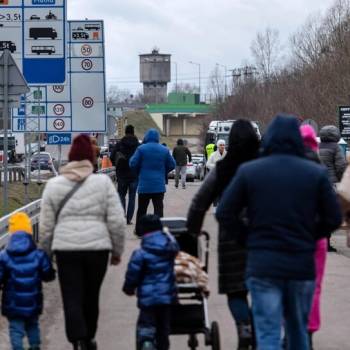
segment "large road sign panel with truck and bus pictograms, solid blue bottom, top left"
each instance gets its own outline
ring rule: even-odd
[[[66,1],[0,1],[0,51],[11,51],[28,84],[66,80]]]

